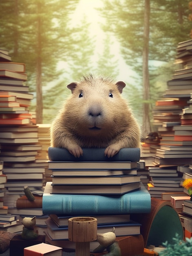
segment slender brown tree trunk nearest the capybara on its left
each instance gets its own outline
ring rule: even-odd
[[[38,14],[40,13],[40,6],[38,4]],[[42,96],[42,44],[41,44],[41,18],[38,16],[37,23],[37,58],[36,58],[36,123],[43,122],[43,96]]]

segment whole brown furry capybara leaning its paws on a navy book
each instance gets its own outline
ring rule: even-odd
[[[72,94],[51,126],[52,147],[75,157],[82,148],[106,148],[105,155],[112,157],[121,148],[140,147],[139,126],[121,97],[124,82],[90,74],[67,87]]]

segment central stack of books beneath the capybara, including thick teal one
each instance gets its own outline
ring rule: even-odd
[[[43,213],[49,214],[46,241],[74,249],[68,240],[68,218],[75,216],[95,216],[98,233],[115,227],[119,239],[140,236],[141,225],[130,214],[150,212],[151,202],[137,174],[140,149],[122,148],[113,161],[104,157],[103,148],[83,150],[84,155],[75,158],[64,148],[49,147],[52,182],[46,182],[42,202]],[[97,245],[91,242],[90,249]]]

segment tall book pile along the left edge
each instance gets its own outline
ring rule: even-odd
[[[7,177],[3,200],[8,213],[41,216],[42,207],[16,207],[18,198],[24,195],[24,186],[42,195],[47,164],[37,159],[42,146],[38,141],[38,126],[31,121],[29,106],[33,94],[29,93],[26,81],[25,64],[12,62],[9,52],[0,49],[0,161]]]

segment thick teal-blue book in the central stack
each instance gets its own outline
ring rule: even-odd
[[[122,214],[150,213],[150,193],[141,189],[124,195],[66,195],[53,194],[52,182],[46,182],[42,199],[44,214]]]

